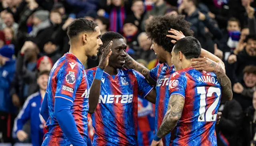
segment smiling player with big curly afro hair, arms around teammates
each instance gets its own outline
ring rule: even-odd
[[[168,108],[170,95],[168,90],[169,77],[175,72],[175,68],[172,65],[172,48],[176,40],[185,36],[193,36],[193,31],[190,29],[190,23],[184,19],[184,16],[155,16],[146,26],[146,33],[148,38],[152,40],[150,49],[156,53],[160,64],[154,69],[148,70],[127,55],[125,65],[142,73],[150,84],[156,88],[156,134]],[[214,63],[218,62],[222,67],[224,66],[224,63],[218,57],[204,49],[201,49],[201,56],[208,57],[213,62],[215,61]],[[154,140],[159,141],[160,139],[155,135]],[[170,144],[170,133],[162,138],[162,142],[164,146]]]

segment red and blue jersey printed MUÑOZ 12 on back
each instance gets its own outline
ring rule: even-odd
[[[182,116],[171,133],[172,146],[217,146],[215,123],[221,87],[214,73],[188,67],[173,73],[170,96],[185,98]]]

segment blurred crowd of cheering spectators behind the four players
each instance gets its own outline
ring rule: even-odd
[[[202,48],[226,65],[234,97],[221,101],[218,145],[256,144],[255,10],[254,0],[0,0],[0,145],[42,143],[39,111],[49,71],[68,52],[66,31],[76,18],[95,21],[101,34],[122,34],[127,53],[152,69],[158,60],[145,25],[161,15],[185,15]],[[88,128],[91,138],[91,121]],[[154,105],[139,99],[139,145],[150,145],[153,132]]]

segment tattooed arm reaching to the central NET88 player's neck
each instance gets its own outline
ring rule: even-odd
[[[130,55],[127,54],[126,56],[126,61],[125,61],[125,66],[128,67],[129,69],[134,69],[138,72],[140,72],[150,83],[150,85],[155,86],[156,81],[150,77],[150,70],[135,61]]]

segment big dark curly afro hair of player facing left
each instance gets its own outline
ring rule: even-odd
[[[161,45],[164,50],[172,52],[174,44],[170,37],[168,30],[171,28],[181,31],[185,36],[193,36],[194,32],[190,29],[190,23],[186,21],[185,16],[154,16],[152,20],[146,25],[146,33],[149,39]]]

